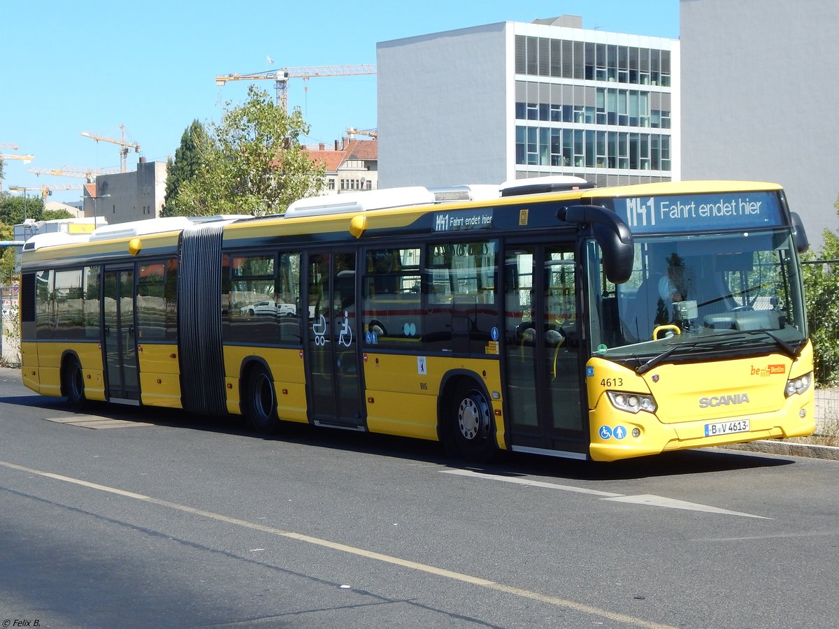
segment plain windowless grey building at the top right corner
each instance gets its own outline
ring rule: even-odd
[[[784,185],[810,242],[836,230],[839,3],[681,0],[682,177]]]

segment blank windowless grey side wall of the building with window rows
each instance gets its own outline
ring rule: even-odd
[[[509,25],[377,44],[379,188],[507,179]]]

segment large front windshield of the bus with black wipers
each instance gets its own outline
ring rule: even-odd
[[[591,351],[620,362],[783,351],[807,338],[789,229],[635,238],[632,277],[607,282],[588,244]],[[640,368],[645,364],[633,366]]]

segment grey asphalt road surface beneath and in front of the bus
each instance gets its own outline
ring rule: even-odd
[[[837,481],[732,450],[476,470],[376,435],[77,415],[0,369],[0,625],[833,627]]]

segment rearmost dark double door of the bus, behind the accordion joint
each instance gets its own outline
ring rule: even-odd
[[[107,398],[138,404],[137,335],[134,328],[133,268],[105,268],[102,282],[102,352]]]

